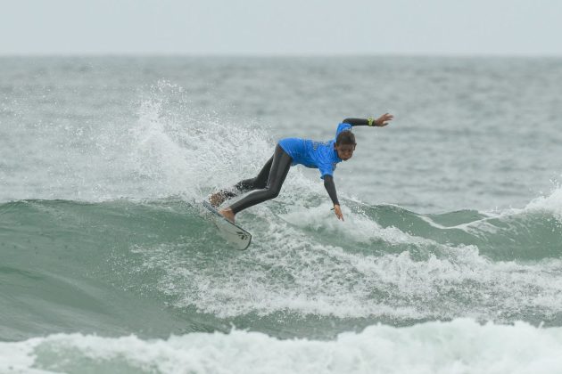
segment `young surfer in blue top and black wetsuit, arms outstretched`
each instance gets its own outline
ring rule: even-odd
[[[393,115],[384,113],[379,118],[346,118],[337,126],[335,139],[327,142],[316,142],[301,138],[285,138],[277,142],[273,156],[261,168],[260,173],[252,179],[244,179],[233,187],[220,190],[209,197],[213,207],[219,207],[227,199],[232,199],[244,192],[244,198],[219,213],[227,220],[234,223],[236,213],[247,207],[259,204],[265,200],[275,199],[281,191],[289,168],[293,165],[318,168],[320,177],[324,180],[324,187],[334,203],[334,213],[338,219],[343,220],[342,209],[337,199],[334,184],[334,171],[337,163],[347,161],[353,156],[357,143],[355,135],[351,133],[352,126],[377,126],[388,125]]]

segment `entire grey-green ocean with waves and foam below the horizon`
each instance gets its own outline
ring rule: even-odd
[[[0,58],[0,372],[562,372],[562,59]],[[278,139],[357,150],[236,215]]]

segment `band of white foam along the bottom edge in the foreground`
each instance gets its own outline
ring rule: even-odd
[[[0,343],[0,370],[558,374],[560,352],[562,328],[541,329],[524,322],[480,325],[459,319],[404,328],[375,325],[325,341],[280,340],[236,329],[165,340],[59,334]]]

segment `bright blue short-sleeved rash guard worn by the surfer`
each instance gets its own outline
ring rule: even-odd
[[[334,175],[335,166],[342,162],[334,149],[337,135],[343,131],[350,131],[351,125],[341,123],[335,131],[335,138],[327,142],[316,142],[301,138],[285,138],[279,141],[279,146],[293,159],[292,165],[318,168],[320,178]]]

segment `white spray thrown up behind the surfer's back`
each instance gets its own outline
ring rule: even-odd
[[[181,87],[165,81],[141,103],[128,136],[131,168],[142,176],[144,198],[202,199],[240,175],[253,175],[273,152],[262,130],[191,108]]]

